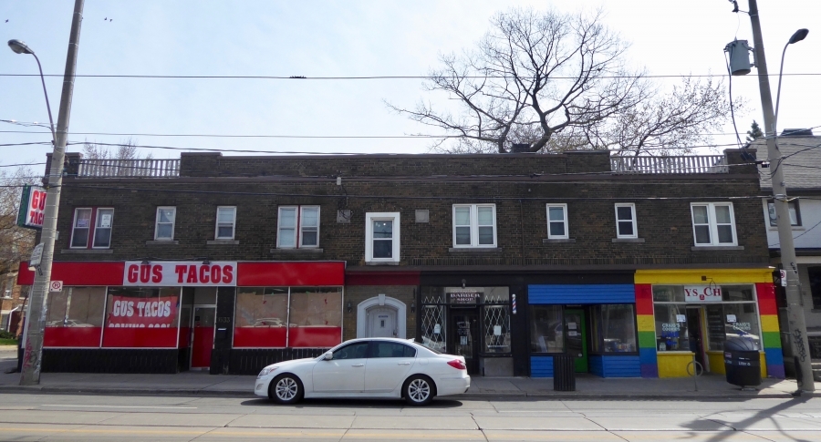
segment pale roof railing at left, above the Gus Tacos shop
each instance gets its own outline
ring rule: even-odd
[[[180,159],[80,159],[81,178],[177,178]]]

